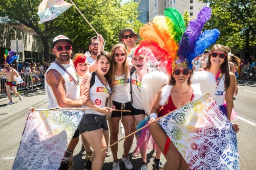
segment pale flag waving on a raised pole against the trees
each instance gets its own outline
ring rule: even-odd
[[[69,9],[73,4],[66,3],[64,0],[42,0],[38,6],[37,15],[40,17],[38,23],[43,23],[55,19],[60,14]]]

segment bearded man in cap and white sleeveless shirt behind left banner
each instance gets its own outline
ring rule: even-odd
[[[58,35],[53,39],[52,53],[56,60],[45,76],[45,88],[49,108],[81,107],[89,100],[88,90],[80,95],[80,83],[71,60],[73,42],[66,36]],[[62,158],[59,169],[68,169],[68,163],[78,143],[77,130]]]

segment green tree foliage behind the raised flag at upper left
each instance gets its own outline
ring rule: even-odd
[[[66,1],[71,3],[69,1]],[[136,32],[142,27],[137,20],[138,3],[127,2],[121,5],[121,0],[73,0],[81,13],[91,22],[94,29],[106,40],[105,49],[118,42],[118,32],[131,27]],[[36,14],[41,0],[1,0],[0,16],[8,16],[12,23],[23,23],[33,29],[44,43],[45,59],[49,56],[52,39],[63,34],[74,42],[74,52],[88,50],[89,40],[96,33],[81,17],[75,7],[71,7],[56,19],[38,24]]]

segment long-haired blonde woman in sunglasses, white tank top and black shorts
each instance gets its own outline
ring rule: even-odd
[[[110,86],[113,89],[113,108],[121,110],[132,110],[130,98],[130,72],[127,68],[127,52],[123,44],[116,44],[111,51],[112,63],[110,71]],[[134,116],[133,112],[113,111],[109,119],[110,127],[110,144],[118,140],[119,122],[123,124],[125,136],[134,132]],[[125,164],[126,169],[132,169],[133,165],[129,160],[128,154],[131,150],[134,135],[124,139],[124,152],[121,160]],[[113,154],[113,169],[120,169],[117,151],[118,144],[111,147]]]

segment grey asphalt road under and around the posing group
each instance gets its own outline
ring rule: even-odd
[[[238,148],[240,158],[240,169],[254,169],[256,167],[255,148],[256,148],[256,81],[242,80],[239,83],[239,93],[234,100],[234,106],[240,118],[234,123],[240,125],[240,131],[237,134]],[[9,101],[0,100],[0,169],[11,169],[14,158],[16,156],[20,138],[24,130],[28,110],[30,107],[47,108],[47,99],[44,90],[39,90],[33,93],[26,94],[24,100],[19,102],[18,98],[14,98],[13,105],[7,106]],[[247,122],[245,122],[247,121]],[[119,131],[119,139],[123,138],[124,134]],[[119,144],[118,158],[121,158],[123,153],[123,142]],[[85,156],[80,154],[81,142],[79,141],[77,148],[74,151],[75,169],[83,169]],[[132,158],[131,153],[135,148],[135,140],[130,151],[130,160],[134,165],[134,169],[140,169],[141,157]],[[161,157],[162,162],[165,162],[164,157]],[[103,169],[112,169],[112,155],[106,157]],[[121,160],[119,159],[121,162]],[[151,152],[147,152],[148,169],[153,168],[153,158]],[[120,163],[121,169],[125,169],[123,163]]]

